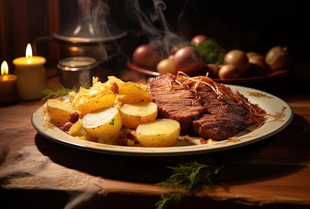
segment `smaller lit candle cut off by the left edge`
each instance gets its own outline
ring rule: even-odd
[[[16,75],[8,74],[7,62],[3,61],[1,64],[0,75],[0,104],[14,103],[18,101],[16,80]]]

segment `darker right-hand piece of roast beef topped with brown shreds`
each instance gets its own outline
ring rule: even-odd
[[[247,127],[246,120],[249,115],[249,108],[245,105],[247,99],[242,95],[231,91],[230,88],[222,86],[222,84],[211,83],[218,85],[225,91],[226,96],[238,98],[238,101],[244,101],[242,104],[233,104],[226,98],[218,95],[210,86],[201,83],[196,86],[195,92],[201,104],[203,104],[209,115],[204,115],[202,118],[193,122],[193,132],[204,138],[213,140],[223,140],[232,137],[235,134],[244,131]],[[194,91],[194,86],[188,86],[191,91]]]

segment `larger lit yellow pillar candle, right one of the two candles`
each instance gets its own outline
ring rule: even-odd
[[[39,100],[44,97],[41,90],[46,85],[45,63],[45,57],[32,55],[30,44],[27,45],[26,56],[13,60],[20,100]]]

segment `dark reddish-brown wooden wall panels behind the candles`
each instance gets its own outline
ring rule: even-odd
[[[0,62],[6,60],[11,72],[27,44],[52,35],[59,24],[59,0],[0,0]]]

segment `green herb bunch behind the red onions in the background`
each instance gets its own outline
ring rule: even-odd
[[[207,39],[199,45],[190,44],[202,57],[203,65],[221,64],[225,51],[214,39]]]

